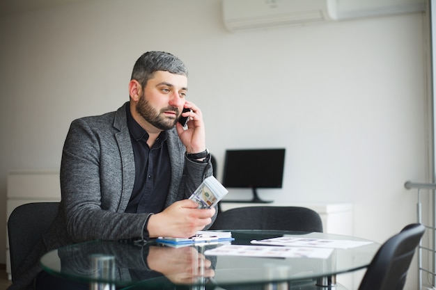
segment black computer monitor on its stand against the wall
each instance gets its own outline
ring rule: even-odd
[[[257,188],[281,188],[285,149],[226,150],[223,185],[228,188],[251,188],[251,200],[228,202],[270,202],[260,200]]]

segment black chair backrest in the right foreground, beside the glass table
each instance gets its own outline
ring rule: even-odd
[[[401,290],[426,227],[414,223],[388,239],[375,254],[359,290]]]

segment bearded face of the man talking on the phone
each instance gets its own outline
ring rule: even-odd
[[[171,129],[182,113],[186,94],[186,76],[157,71],[143,88],[137,112],[157,129]]]

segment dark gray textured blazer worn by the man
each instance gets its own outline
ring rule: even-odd
[[[49,250],[94,239],[143,237],[144,225],[151,213],[124,213],[132,194],[135,170],[126,106],[129,102],[116,112],[71,123],[62,154],[59,214],[42,243],[20,267],[22,275],[15,275],[19,278],[10,290],[28,289],[26,287],[41,270],[39,257]],[[185,157],[186,149],[176,128],[167,134],[171,184],[165,207],[189,198],[201,182],[212,175],[210,161],[196,163]]]

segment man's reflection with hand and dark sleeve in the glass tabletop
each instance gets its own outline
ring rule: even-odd
[[[157,244],[132,245],[100,241],[60,248],[58,255],[62,272],[73,279],[82,277],[83,281],[83,277],[87,277],[92,280],[95,269],[91,256],[110,255],[115,257],[113,273],[117,289],[136,282],[165,289],[174,284],[195,284],[204,280],[199,278],[215,275],[216,257],[206,259],[203,250],[205,248],[192,246],[171,248]],[[84,283],[84,287],[86,288],[83,289],[88,289],[88,283]]]

